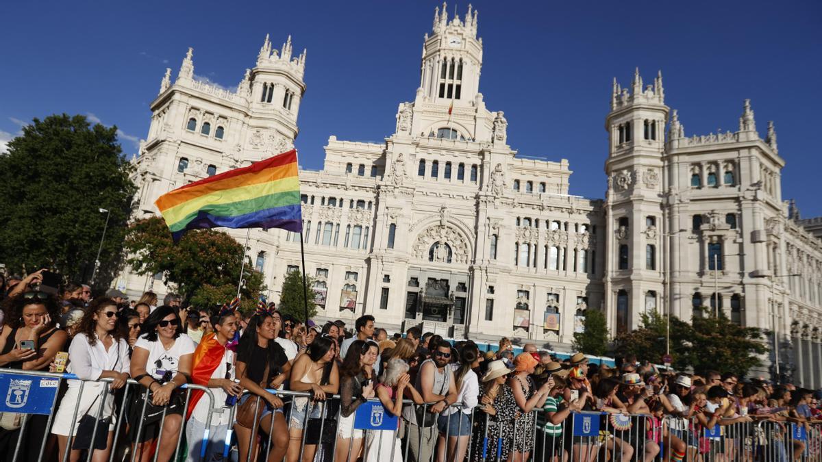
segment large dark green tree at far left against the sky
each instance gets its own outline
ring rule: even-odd
[[[117,127],[84,116],[35,118],[0,155],[0,261],[12,272],[48,268],[86,282],[106,229],[95,287],[117,273],[136,191]]]

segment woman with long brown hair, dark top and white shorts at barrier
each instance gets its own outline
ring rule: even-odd
[[[360,404],[374,397],[374,363],[377,346],[373,340],[354,340],[339,368],[339,423],[335,461],[358,460],[363,449],[363,430],[353,427]]]

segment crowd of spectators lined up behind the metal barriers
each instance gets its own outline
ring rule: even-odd
[[[767,380],[559,360],[534,344],[515,354],[507,339],[483,352],[418,327],[390,336],[370,315],[349,332],[273,303],[242,314],[234,302],[182,307],[173,293],[130,303],[66,284],[54,295],[39,273],[7,282],[0,367],[77,377],[62,381],[53,417],[0,413],[0,454],[18,460],[713,462],[753,460],[759,445],[787,462],[819,450],[783,436],[801,426],[820,438],[820,392]],[[396,428],[358,428],[375,400]],[[575,433],[583,415],[601,422],[593,437]]]

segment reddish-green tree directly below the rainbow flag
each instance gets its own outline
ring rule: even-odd
[[[167,283],[197,307],[228,303],[237,295],[242,244],[228,233],[197,229],[185,233],[176,245],[163,219],[151,217],[132,224],[124,244],[127,263],[138,275],[162,272]],[[262,274],[246,256],[241,290],[241,310],[254,309],[265,291]]]

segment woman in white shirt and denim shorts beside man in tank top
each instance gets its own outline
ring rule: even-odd
[[[440,431],[436,441],[436,460],[439,462],[465,459],[471,436],[471,413],[479,400],[479,379],[473,369],[479,367],[483,359],[477,344],[468,341],[461,345],[459,367],[454,372],[457,400],[440,414],[436,423]]]

